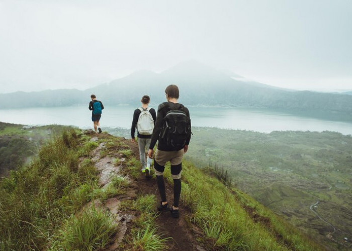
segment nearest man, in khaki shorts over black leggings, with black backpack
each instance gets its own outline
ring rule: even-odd
[[[155,127],[149,146],[148,156],[152,158],[156,141],[159,141],[154,156],[156,183],[161,201],[159,211],[171,211],[171,216],[179,217],[179,200],[181,194],[182,158],[188,150],[191,140],[191,118],[189,110],[178,103],[179,88],[171,84],[165,89],[166,100],[158,106]],[[165,163],[171,164],[173,179],[173,205],[168,207],[163,172]]]

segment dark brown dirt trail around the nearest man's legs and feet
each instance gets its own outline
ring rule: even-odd
[[[135,157],[139,159],[138,144],[130,141],[125,143],[131,148]],[[169,169],[165,169],[165,172],[169,171]],[[157,198],[157,202],[159,203],[160,196],[155,178],[147,180],[141,173],[137,180],[137,187],[139,194],[154,194]],[[173,185],[165,182],[165,189],[166,198],[171,206],[173,202]],[[197,242],[196,236],[193,233],[190,224],[186,221],[185,215],[190,214],[191,212],[185,209],[180,201],[180,218],[172,218],[170,212],[161,213],[157,217],[156,222],[159,226],[160,233],[163,234],[163,237],[172,237],[172,240],[168,242],[170,250],[205,250]]]

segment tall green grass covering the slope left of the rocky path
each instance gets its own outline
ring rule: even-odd
[[[76,130],[63,133],[45,143],[30,165],[12,171],[0,181],[0,249],[38,250],[57,244],[69,250],[72,238],[83,239],[74,237],[74,229],[84,230],[84,236],[100,229],[79,226],[81,221],[98,224],[107,217],[98,209],[79,214],[81,207],[97,196],[98,189],[93,163],[84,160],[78,169],[80,144],[83,144],[84,156],[89,156],[89,151],[97,146],[87,140],[87,136],[78,136]],[[92,224],[87,227],[93,227]],[[96,233],[97,239],[101,239],[98,246],[111,238],[109,231]],[[65,236],[66,242],[60,236]],[[84,242],[92,239],[84,237]],[[86,242],[84,249],[91,248],[87,245],[95,248],[96,243]]]

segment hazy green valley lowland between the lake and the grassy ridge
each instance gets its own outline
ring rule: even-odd
[[[241,191],[331,249],[350,245],[344,240],[352,237],[350,135],[216,128],[193,134],[187,158],[198,167],[226,172]]]

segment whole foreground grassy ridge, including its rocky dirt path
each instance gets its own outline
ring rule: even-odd
[[[30,165],[0,181],[0,249],[324,249],[190,162],[181,218],[156,214],[155,177],[141,175],[137,151],[123,138],[73,129],[45,144]]]

